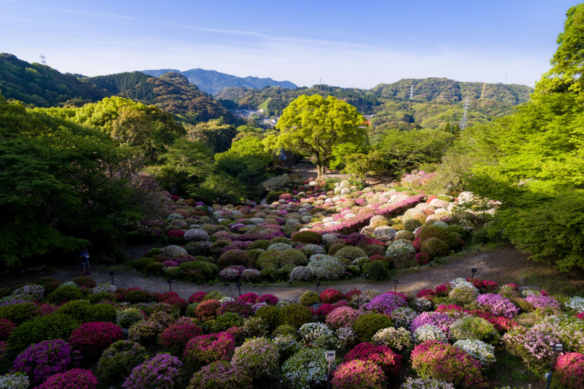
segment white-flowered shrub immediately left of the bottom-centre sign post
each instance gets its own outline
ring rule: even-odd
[[[332,370],[332,367],[331,367]],[[291,389],[312,389],[326,383],[325,349],[302,349],[282,365],[282,381]]]

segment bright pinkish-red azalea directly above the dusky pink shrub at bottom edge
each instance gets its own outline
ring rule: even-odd
[[[206,365],[215,360],[229,360],[234,350],[234,336],[223,331],[190,339],[183,355],[190,365]]]

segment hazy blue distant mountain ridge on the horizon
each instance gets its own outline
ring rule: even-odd
[[[238,77],[214,70],[189,69],[181,72],[177,69],[152,69],[139,71],[151,76],[159,77],[164,73],[173,72],[185,76],[190,83],[195,84],[203,92],[215,94],[227,87],[244,87],[262,89],[265,86],[280,86],[286,89],[296,89],[297,86],[290,81],[276,81],[271,78]]]

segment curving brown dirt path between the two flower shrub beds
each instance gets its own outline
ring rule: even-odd
[[[139,250],[138,250],[139,251]],[[418,270],[403,272],[384,283],[368,282],[339,282],[330,285],[321,285],[319,290],[326,288],[335,288],[342,292],[348,292],[352,289],[377,289],[382,292],[394,290],[394,279],[398,279],[398,292],[416,293],[421,289],[434,288],[443,282],[449,282],[457,277],[468,278],[471,276],[471,268],[477,268],[475,277],[480,279],[489,279],[499,283],[516,282],[518,285],[524,285],[524,277],[527,274],[545,274],[546,276],[562,279],[566,274],[553,270],[549,265],[540,264],[527,260],[527,254],[516,250],[513,247],[503,247],[497,250],[486,251],[484,253],[471,254],[466,257],[453,259],[443,265],[424,267]],[[123,265],[113,267],[95,266],[92,267],[92,278],[96,282],[111,282],[110,271],[114,271],[114,285],[120,288],[130,288],[139,286],[150,292],[167,292],[169,290],[166,279],[145,277],[138,272],[128,271]],[[41,276],[53,276],[59,281],[70,281],[72,278],[81,275],[81,268],[69,266],[63,268],[48,268],[38,272],[27,273],[5,273],[0,274],[2,277],[2,286],[14,288],[16,285],[23,285],[32,282]],[[578,281],[582,287],[582,280]],[[299,297],[305,290],[314,289],[314,285],[304,286],[251,286],[244,285],[241,288],[242,293],[254,292],[258,295],[272,294],[278,297]],[[223,283],[214,285],[194,285],[192,283],[173,281],[173,292],[179,293],[183,299],[187,299],[193,292],[204,290],[220,290],[221,292],[237,296],[238,290],[235,283],[228,286]]]

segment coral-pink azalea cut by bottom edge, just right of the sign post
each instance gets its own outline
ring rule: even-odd
[[[331,383],[334,389],[383,389],[385,374],[370,360],[353,359],[336,368]]]

